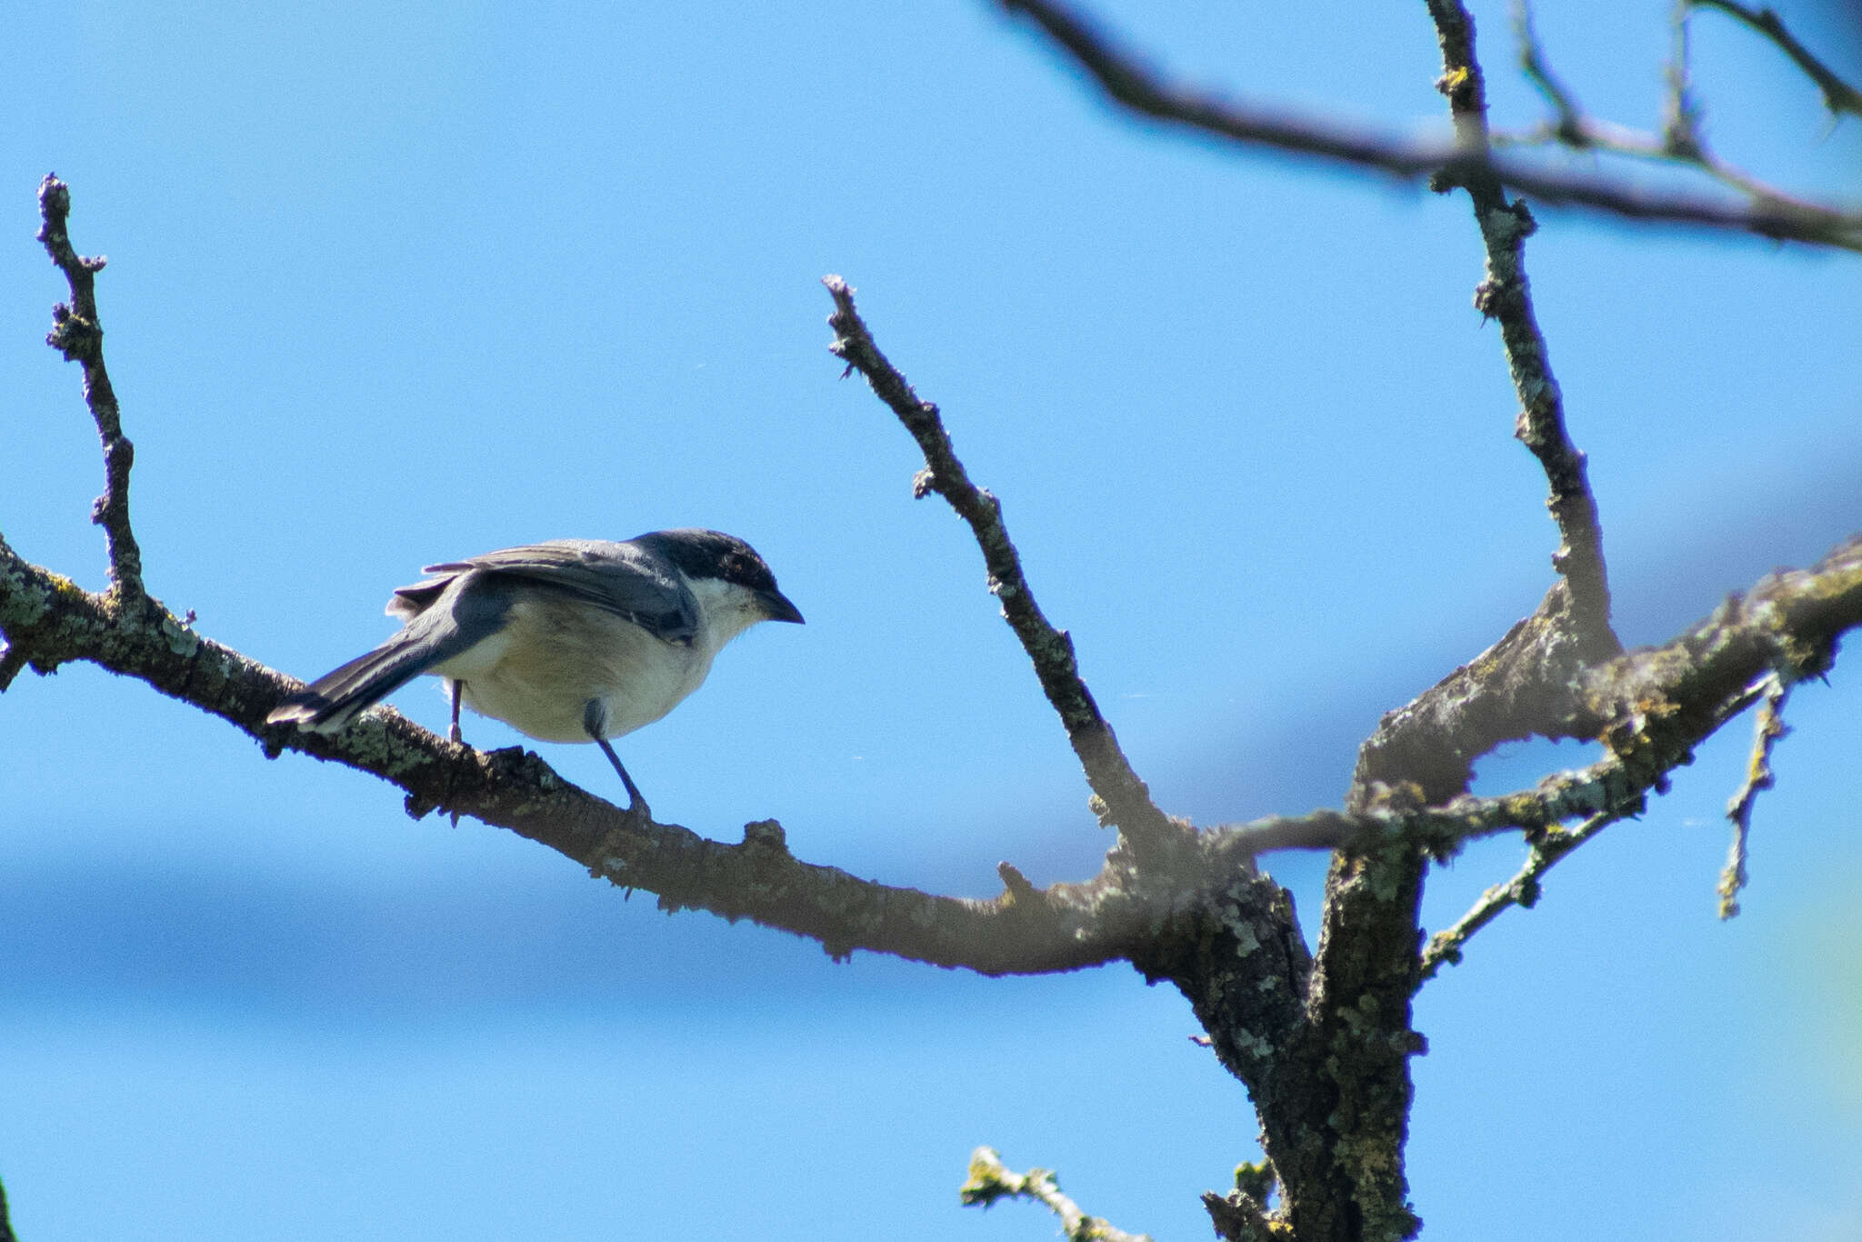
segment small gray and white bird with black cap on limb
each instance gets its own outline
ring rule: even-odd
[[[551,540],[421,570],[387,614],[393,639],[281,702],[266,724],[333,734],[423,672],[460,704],[540,741],[601,747],[650,814],[609,737],[672,711],[711,659],[762,620],[801,624],[763,559],[719,531],[654,531],[624,544]]]

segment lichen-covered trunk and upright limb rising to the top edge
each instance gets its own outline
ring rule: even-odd
[[[1430,13],[1458,145],[1484,153],[1486,95],[1473,22],[1449,0],[1430,0]],[[1488,248],[1477,305],[1501,324],[1519,397],[1516,434],[1551,486],[1549,506],[1562,540],[1555,566],[1564,581],[1475,665],[1383,719],[1359,750],[1346,797],[1346,810],[1356,814],[1428,814],[1464,795],[1475,756],[1504,736],[1540,732],[1568,715],[1577,674],[1620,650],[1609,626],[1596,505],[1583,454],[1564,432],[1562,400],[1525,281],[1521,250],[1531,214],[1523,203],[1506,201],[1491,168],[1436,179],[1437,188],[1449,184],[1467,188]],[[1279,1175],[1275,1218],[1298,1238],[1393,1242],[1421,1229],[1404,1173],[1410,1058],[1426,1046],[1411,1022],[1411,998],[1423,877],[1441,849],[1413,836],[1380,834],[1333,853],[1302,1022],[1289,1032],[1262,1084],[1266,1102],[1249,1080],[1261,1143]],[[1210,974],[1190,979],[1186,991],[1201,1017],[1236,1004],[1236,983]],[[1214,1030],[1212,1037],[1220,1052],[1223,1041]],[[1218,1229],[1233,1223],[1227,1201],[1221,1207],[1210,1203]]]

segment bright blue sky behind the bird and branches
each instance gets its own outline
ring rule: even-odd
[[[1290,7],[1102,11],[1240,95],[1439,128],[1421,6]],[[1538,28],[1646,125],[1665,9]],[[1536,119],[1477,13],[1497,121]],[[1855,197],[1862,127],[1776,54],[1702,17],[1696,76],[1726,156]],[[432,560],[670,525],[769,559],[808,626],[622,743],[708,836],[775,816],[812,862],[979,896],[1002,858],[1046,883],[1108,845],[974,546],[838,378],[829,272],[1173,812],[1337,804],[1378,715],[1549,583],[1465,203],[1127,121],[981,4],[28,6],[0,108],[11,546],[102,585],[95,432],[41,344],[58,171],[110,255],[149,585],[205,633],[313,676]],[[1856,259],[1540,218],[1627,642],[1862,529]],[[397,702],[445,721],[432,685]],[[1739,920],[1713,883],[1743,721],[1423,992],[1424,1238],[1862,1233],[1851,663],[1788,722]],[[544,754],[611,791],[594,749]],[[1519,745],[1480,780],[1581,762]],[[1130,970],[834,965],[667,918],[89,667],[0,698],[0,1177],[32,1242],[1052,1236],[957,1208],[978,1143],[1162,1242],[1255,1154],[1188,1006]],[[1518,860],[1441,870],[1426,924]],[[1311,918],[1322,858],[1270,870]]]

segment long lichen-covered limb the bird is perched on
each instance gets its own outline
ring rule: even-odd
[[[406,791],[408,810],[464,814],[540,842],[665,909],[704,909],[819,940],[983,974],[1037,974],[1117,961],[1205,883],[1207,860],[1138,884],[1113,851],[1086,884],[1004,892],[991,901],[937,898],[793,858],[773,823],[741,844],[678,825],[635,823],[562,780],[521,749],[480,752],[376,708],[333,736],[266,726],[298,682],[186,628],[168,609],[125,613],[19,557],[0,538],[0,631],[41,672],[84,659],[218,715],[270,754],[304,750]]]

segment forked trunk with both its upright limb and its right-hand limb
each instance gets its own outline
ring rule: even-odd
[[[1456,0],[1430,0],[1428,7],[1443,52],[1439,84],[1449,95],[1458,140],[1486,149],[1486,97],[1473,20]],[[1523,272],[1531,214],[1521,203],[1506,201],[1506,182],[1493,169],[1473,173],[1452,184],[1469,190],[1488,248],[1488,279],[1477,305],[1501,320],[1521,406],[1518,434],[1551,482],[1551,510],[1562,536],[1555,564],[1564,581],[1480,659],[1385,717],[1359,752],[1348,812],[1395,816],[1415,836],[1376,832],[1341,842],[1350,847],[1333,855],[1305,1011],[1277,1037],[1277,1056],[1264,1065],[1249,1063],[1248,1039],[1257,1028],[1244,1024],[1240,1039],[1220,1030],[1244,998],[1240,979],[1225,978],[1208,963],[1173,974],[1208,1024],[1212,1046],[1249,1084],[1261,1112],[1261,1141],[1281,1179],[1283,1197],[1274,1220],[1300,1238],[1406,1238],[1421,1225],[1408,1203],[1404,1177],[1411,1100],[1408,1058],[1423,1048],[1410,1002],[1426,978],[1415,948],[1417,914],[1430,855],[1452,851],[1456,840],[1465,840],[1456,834],[1469,832],[1482,814],[1480,799],[1462,793],[1471,760],[1497,741],[1527,734],[1603,734],[1609,739],[1611,758],[1592,769],[1486,806],[1499,819],[1547,816],[1540,825],[1519,825],[1544,844],[1542,870],[1609,819],[1639,810],[1648,790],[1663,790],[1666,771],[1750,702],[1767,667],[1789,667],[1788,674],[1780,672],[1789,678],[1821,670],[1834,652],[1836,631],[1825,631],[1828,641],[1812,642],[1810,650],[1782,650],[1771,628],[1778,611],[1791,611],[1786,600],[1808,603],[1801,613],[1804,620],[1821,607],[1810,601],[1828,594],[1845,598],[1847,607],[1862,603],[1862,596],[1853,594],[1862,585],[1856,577],[1862,557],[1851,544],[1819,566],[1815,588],[1799,590],[1806,587],[1802,581],[1769,581],[1754,600],[1732,601],[1668,648],[1609,659],[1620,646],[1609,626],[1596,505],[1583,456],[1564,430],[1562,402]],[[1437,179],[1437,184],[1450,184],[1450,179]],[[1810,628],[1823,629],[1817,622]],[[1681,667],[1689,672],[1681,674]],[[1680,709],[1668,693],[1648,693],[1652,678],[1676,689],[1685,683],[1691,706]],[[1464,819],[1449,827],[1449,836],[1432,840],[1428,821],[1436,810]],[[1588,814],[1585,827],[1590,830],[1558,827],[1573,814]],[[1341,817],[1339,827],[1350,817]],[[1536,875],[1527,883],[1536,883]],[[1443,955],[1454,952],[1473,929],[1525,892],[1519,884],[1493,894],[1490,907],[1477,909],[1434,948]],[[1218,942],[1223,950],[1246,948],[1220,937]],[[1229,1199],[1210,1203],[1212,1220],[1225,1236],[1248,1223],[1246,1212],[1233,1207]]]

